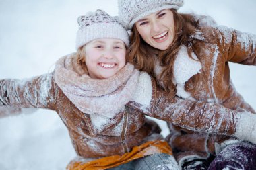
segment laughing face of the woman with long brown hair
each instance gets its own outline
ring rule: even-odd
[[[170,9],[143,17],[135,26],[141,38],[159,50],[166,50],[174,40],[174,19]]]

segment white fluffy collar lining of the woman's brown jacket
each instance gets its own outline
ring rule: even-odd
[[[192,53],[192,57],[193,59],[189,57],[187,47],[183,45],[174,62],[174,77],[172,81],[177,85],[177,95],[183,99],[191,97],[191,94],[185,91],[185,82],[187,82],[193,75],[200,73],[202,68],[195,53]]]

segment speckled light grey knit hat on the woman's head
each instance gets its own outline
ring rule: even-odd
[[[183,0],[119,0],[119,19],[130,30],[139,19],[163,9],[179,9]]]

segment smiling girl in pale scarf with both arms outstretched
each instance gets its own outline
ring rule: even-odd
[[[47,108],[59,114],[79,156],[67,169],[178,169],[160,129],[145,115],[191,130],[244,137],[240,117],[248,113],[169,97],[149,75],[125,64],[129,36],[115,18],[98,10],[78,23],[77,53],[60,58],[53,73],[0,81],[2,108]],[[222,120],[205,122],[201,114]]]

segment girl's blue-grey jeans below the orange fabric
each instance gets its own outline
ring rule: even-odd
[[[172,155],[156,153],[113,167],[110,170],[177,170],[178,165]]]

